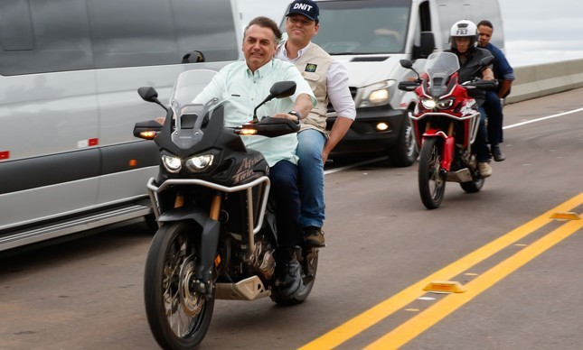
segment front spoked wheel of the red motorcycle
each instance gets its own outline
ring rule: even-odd
[[[433,137],[425,139],[419,156],[419,195],[428,209],[439,207],[446,191],[446,179],[439,171],[442,155],[437,141]]]

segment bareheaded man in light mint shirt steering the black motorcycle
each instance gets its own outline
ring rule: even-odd
[[[299,123],[298,115],[308,115],[316,100],[296,66],[274,59],[279,40],[281,31],[277,23],[263,16],[252,19],[245,28],[243,37],[242,51],[245,60],[223,67],[193,102],[218,97],[215,96],[216,92],[224,91],[222,87],[226,83],[230,97],[224,103],[224,123],[225,126],[238,126],[252,120],[254,106],[259,105],[269,95],[269,89],[274,83],[293,80],[296,82],[296,93],[291,97],[274,99],[259,107],[258,116],[260,118],[271,115]],[[286,134],[273,138],[241,135],[241,139],[247,148],[261,152],[268,161],[270,197],[276,206],[278,280],[282,292],[293,298],[301,286],[296,249],[304,243],[304,235],[299,226],[297,135]]]

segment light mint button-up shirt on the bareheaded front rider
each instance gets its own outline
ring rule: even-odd
[[[296,98],[301,94],[307,94],[315,106],[315,97],[312,89],[299,71],[291,63],[281,60],[270,60],[266,65],[251,72],[245,61],[230,63],[219,71],[202,95],[207,91],[223,91],[228,93],[224,103],[225,126],[238,126],[253,119],[253,109],[269,95],[269,89],[277,81],[293,80],[296,82],[296,93],[291,97],[274,98],[265,105],[260,106],[257,116],[272,116],[277,113],[287,113],[293,109]],[[218,87],[218,86],[221,87]],[[197,97],[195,100],[201,98]],[[202,98],[204,100],[204,98]],[[241,136],[243,143],[249,149],[259,151],[273,166],[277,161],[287,160],[297,163],[296,147],[297,134],[287,134],[278,137],[266,136]]]

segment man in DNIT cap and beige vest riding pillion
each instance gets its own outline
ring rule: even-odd
[[[354,100],[348,88],[348,70],[338,60],[312,42],[320,28],[318,5],[312,0],[296,0],[286,14],[287,41],[280,43],[276,58],[292,62],[314,89],[317,106],[302,119],[297,134],[300,224],[306,244],[323,247],[324,163],[334,146],[356,117]],[[330,133],[326,132],[328,102],[337,113]]]

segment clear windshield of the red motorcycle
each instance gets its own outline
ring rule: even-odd
[[[426,66],[429,92],[439,97],[447,91],[449,77],[459,69],[459,60],[452,52],[434,52],[429,55]]]

